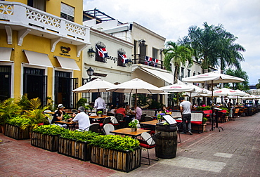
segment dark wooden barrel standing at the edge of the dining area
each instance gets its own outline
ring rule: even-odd
[[[156,124],[155,133],[161,132],[157,137],[155,146],[156,157],[171,159],[176,157],[177,151],[177,126]]]

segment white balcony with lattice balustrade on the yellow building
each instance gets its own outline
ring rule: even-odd
[[[6,29],[8,44],[12,42],[12,30],[19,32],[18,45],[27,34],[52,39],[52,44],[58,41],[73,44],[80,51],[90,44],[89,27],[17,2],[0,2],[0,29]]]

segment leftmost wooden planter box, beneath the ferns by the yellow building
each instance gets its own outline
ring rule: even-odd
[[[30,129],[20,129],[20,126],[13,126],[11,124],[6,124],[5,136],[14,138],[15,140],[25,140],[30,139]]]

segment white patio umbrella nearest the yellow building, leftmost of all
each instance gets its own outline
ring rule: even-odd
[[[91,92],[108,92],[115,84],[111,84],[108,81],[104,81],[103,79],[97,78],[93,81],[90,81],[83,86],[80,86],[77,89],[74,89],[72,92],[76,93],[91,93]]]

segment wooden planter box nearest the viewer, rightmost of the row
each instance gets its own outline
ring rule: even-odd
[[[132,152],[91,146],[91,163],[129,172],[141,166],[141,148],[137,147]]]

